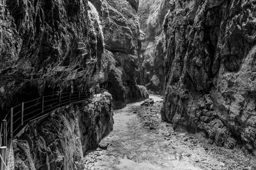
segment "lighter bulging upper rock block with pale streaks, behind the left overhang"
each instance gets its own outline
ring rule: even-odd
[[[106,49],[111,52],[135,53],[140,29],[131,4],[125,0],[104,0],[102,11]]]

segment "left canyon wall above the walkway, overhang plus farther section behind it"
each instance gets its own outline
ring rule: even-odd
[[[138,1],[0,3],[1,118],[22,101],[97,83],[108,83],[116,108],[148,97],[138,85]]]

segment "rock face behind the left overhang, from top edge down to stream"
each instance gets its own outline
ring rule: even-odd
[[[138,86],[141,83],[141,31],[136,10],[138,1],[126,0],[103,0],[98,9],[102,13],[106,47],[100,77],[108,82],[116,109],[148,97],[147,90]]]

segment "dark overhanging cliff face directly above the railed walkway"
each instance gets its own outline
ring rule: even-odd
[[[1,113],[56,90],[88,90],[104,49],[88,2],[1,1]],[[88,63],[90,59],[96,62]]]

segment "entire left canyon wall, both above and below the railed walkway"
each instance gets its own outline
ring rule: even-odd
[[[0,1],[1,119],[24,101],[97,83],[113,96],[29,124],[14,143],[17,169],[83,169],[83,154],[113,128],[111,105],[148,97],[137,10],[132,0]]]

